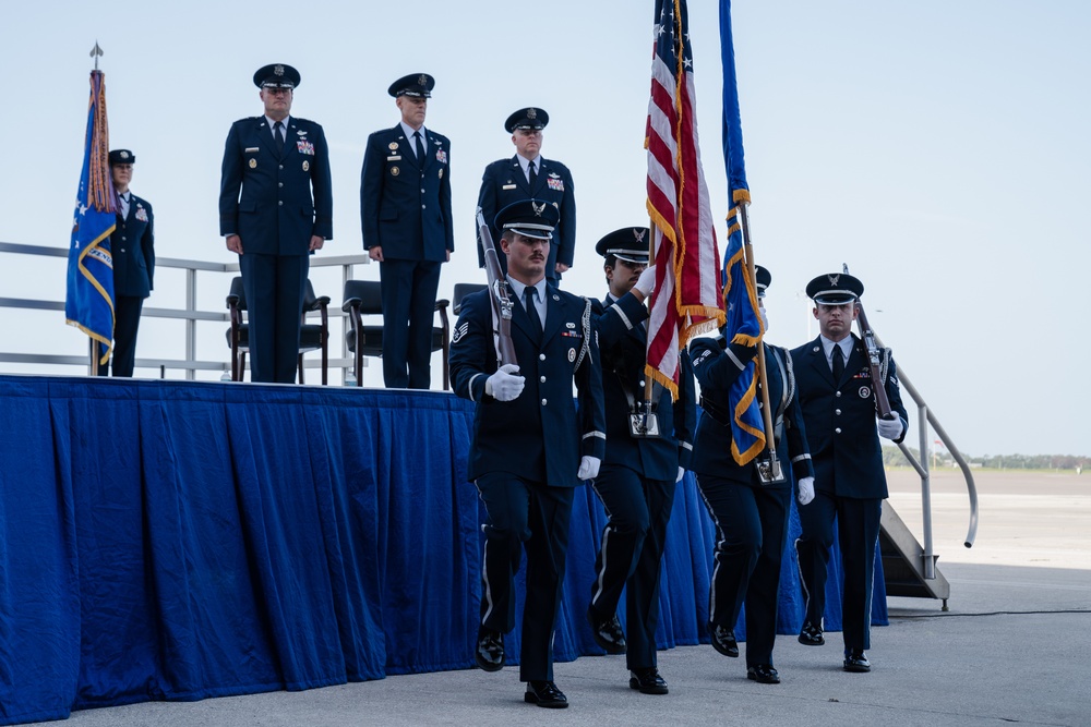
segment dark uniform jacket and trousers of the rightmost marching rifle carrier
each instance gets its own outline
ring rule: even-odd
[[[792,361],[815,464],[815,500],[800,509],[803,534],[796,542],[807,599],[805,618],[822,623],[836,519],[844,571],[841,606],[844,647],[871,649],[875,545],[883,500],[887,497],[873,387],[885,387],[891,409],[901,416],[900,441],[906,436],[909,415],[901,402],[897,367],[889,349],[885,349],[880,366],[885,379],[873,381],[864,344],[855,335],[839,381],[834,380],[820,337],[792,350]]]

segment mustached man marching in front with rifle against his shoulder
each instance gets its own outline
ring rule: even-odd
[[[519,679],[525,701],[566,707],[553,682],[553,630],[576,486],[606,449],[602,375],[591,303],[546,280],[556,209],[524,199],[496,215],[507,257],[516,362],[497,366],[490,295],[466,296],[451,341],[455,393],[477,403],[467,477],[485,509],[481,620],[475,659],[504,666],[515,627],[515,574],[527,554]],[[572,387],[578,389],[578,409]]]

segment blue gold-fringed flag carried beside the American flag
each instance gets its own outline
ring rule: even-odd
[[[723,304],[728,313],[726,338],[733,343],[762,344],[757,289],[746,269],[740,207],[750,204],[743,165],[743,129],[735,85],[735,53],[731,41],[731,0],[720,0],[720,54],[723,60],[723,166],[728,172],[728,249],[723,254]],[[746,464],[765,448],[765,426],[757,398],[756,359],[728,391],[731,403],[731,456]]]

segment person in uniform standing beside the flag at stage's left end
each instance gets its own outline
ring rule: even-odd
[[[152,204],[129,190],[136,155],[129,149],[109,154],[110,174],[117,194],[117,223],[110,234],[113,255],[113,360],[115,376],[132,376],[136,361],[136,330],[144,299],[152,293],[155,275],[155,217]],[[98,367],[106,376],[107,366]]]

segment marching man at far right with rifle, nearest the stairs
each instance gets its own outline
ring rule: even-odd
[[[844,572],[841,620],[844,670],[870,671],[872,575],[883,500],[887,497],[879,437],[906,437],[909,415],[901,403],[890,350],[882,351],[883,380],[872,379],[864,343],[852,332],[864,284],[846,272],[820,275],[807,284],[819,336],[792,351],[803,420],[814,458],[814,502],[800,510],[803,535],[796,541],[807,599],[800,643],[820,646],[826,579],[834,521]],[[875,387],[886,389],[898,416],[879,420]]]

